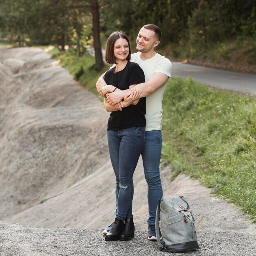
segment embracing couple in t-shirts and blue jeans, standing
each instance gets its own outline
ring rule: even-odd
[[[107,138],[116,177],[115,220],[103,231],[106,241],[134,237],[132,177],[140,155],[148,184],[148,239],[156,240],[156,209],[163,196],[159,172],[162,98],[171,77],[171,62],[155,52],[161,34],[156,25],[142,27],[135,54],[121,31],[113,32],[106,43],[106,62],[114,65],[96,84],[106,110],[111,112]]]

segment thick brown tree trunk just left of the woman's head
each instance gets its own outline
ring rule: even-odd
[[[99,31],[99,4],[97,0],[92,3],[92,33],[93,33],[93,46],[95,51],[95,70],[101,70],[103,67],[103,59],[101,52],[101,41]]]

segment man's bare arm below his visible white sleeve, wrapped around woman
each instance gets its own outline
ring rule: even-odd
[[[143,98],[155,92],[155,90],[157,90],[158,88],[166,84],[169,78],[170,77],[164,73],[155,72],[147,82],[139,83],[135,85],[133,88],[135,88],[139,92],[140,94],[139,97]],[[130,92],[130,89],[127,89],[121,92],[111,93],[107,97],[107,101],[109,104],[115,105],[116,103],[124,99],[125,95],[129,92]]]

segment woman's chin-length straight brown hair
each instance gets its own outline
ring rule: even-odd
[[[130,61],[131,59],[131,49],[130,49],[130,43],[129,43],[128,37],[122,31],[115,31],[108,37],[108,40],[106,43],[105,60],[109,64],[117,64],[115,54],[114,54],[114,44],[116,40],[119,38],[124,38],[127,41],[129,46],[129,54],[126,60]]]

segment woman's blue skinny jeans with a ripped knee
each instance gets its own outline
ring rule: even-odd
[[[144,146],[145,127],[108,130],[108,149],[116,176],[116,218],[132,218],[133,173]]]

